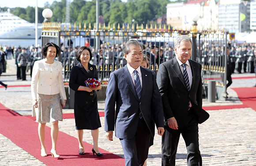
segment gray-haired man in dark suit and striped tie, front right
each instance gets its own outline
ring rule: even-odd
[[[202,109],[202,66],[189,59],[192,52],[190,37],[177,37],[174,50],[176,57],[162,63],[157,74],[167,130],[162,136],[162,166],[175,166],[181,134],[188,151],[188,166],[202,166],[198,124],[208,118]]]

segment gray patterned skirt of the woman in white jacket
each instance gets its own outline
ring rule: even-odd
[[[55,95],[38,94],[38,108],[32,106],[33,116],[36,116],[36,122],[39,123],[62,121],[60,93]]]

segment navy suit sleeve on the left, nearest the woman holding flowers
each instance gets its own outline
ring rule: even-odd
[[[105,100],[105,131],[114,131],[115,126],[115,103],[117,98],[117,78],[111,73],[106,90]]]

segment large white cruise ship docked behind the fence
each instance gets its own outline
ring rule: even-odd
[[[1,9],[0,9],[1,10]],[[38,38],[41,27],[38,28]],[[0,39],[35,39],[35,24],[8,11],[0,11]]]

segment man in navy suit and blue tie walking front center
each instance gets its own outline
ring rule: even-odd
[[[116,136],[124,150],[125,166],[143,166],[150,137],[154,136],[154,122],[158,135],[164,133],[160,92],[154,73],[140,67],[142,51],[139,41],[130,40],[124,45],[127,65],[110,74],[106,90],[106,136],[113,141],[116,126]]]

